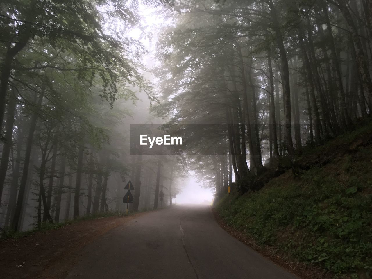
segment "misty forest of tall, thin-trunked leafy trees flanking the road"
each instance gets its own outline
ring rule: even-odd
[[[218,201],[324,164],[303,158],[371,120],[371,13],[371,0],[1,1],[1,235],[125,212],[129,180],[137,212],[172,205],[190,173]],[[195,155],[131,155],[131,124],[189,135]]]

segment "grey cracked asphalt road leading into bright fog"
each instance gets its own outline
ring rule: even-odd
[[[87,245],[68,279],[295,279],[230,234],[209,206],[149,212]]]

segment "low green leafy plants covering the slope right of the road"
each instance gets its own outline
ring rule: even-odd
[[[357,164],[369,161],[369,150],[362,151],[366,156]],[[359,174],[359,181],[372,175],[368,166],[359,166]],[[217,207],[229,225],[293,259],[335,274],[371,272],[372,196],[357,191],[365,184],[355,183],[349,177],[346,184],[354,185],[344,186],[316,168],[302,177],[306,187],[279,177],[259,192],[233,198],[231,215],[228,197]]]

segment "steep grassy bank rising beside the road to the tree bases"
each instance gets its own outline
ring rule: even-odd
[[[300,262],[352,278],[372,275],[372,125],[305,151],[316,164],[216,205],[228,225]]]

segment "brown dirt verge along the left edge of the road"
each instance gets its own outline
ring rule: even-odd
[[[76,222],[36,232],[19,239],[0,241],[2,279],[60,279],[78,260],[78,252],[100,235],[145,213]]]

